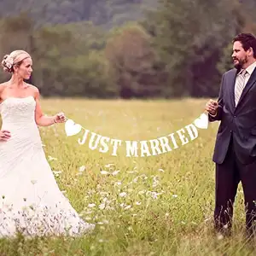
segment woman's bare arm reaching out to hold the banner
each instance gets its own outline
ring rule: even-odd
[[[39,126],[49,126],[56,123],[63,123],[65,122],[64,113],[57,113],[54,116],[46,116],[44,115],[42,108],[39,102],[39,90],[38,88],[35,89],[35,101],[36,101],[36,111],[35,111],[35,120],[37,125]]]

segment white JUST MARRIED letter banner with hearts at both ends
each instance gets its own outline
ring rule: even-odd
[[[85,129],[82,125],[76,124],[73,119],[67,119],[65,123],[65,131],[67,137],[72,137],[84,131],[84,136],[79,138],[79,145],[84,145],[88,142],[91,150],[98,149],[101,153],[110,153],[117,156],[119,147],[125,145],[127,157],[145,157],[157,154],[164,154],[178,148],[177,140],[182,144],[187,144],[194,141],[198,137],[199,129],[208,128],[208,115],[201,113],[201,116],[194,120],[193,123],[184,126],[182,129],[170,133],[164,137],[157,137],[148,141],[124,141],[120,139],[113,139],[96,134],[93,131]]]

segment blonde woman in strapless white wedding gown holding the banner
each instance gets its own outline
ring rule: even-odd
[[[64,113],[42,113],[38,88],[24,82],[32,73],[26,51],[5,55],[2,66],[12,77],[0,84],[0,237],[79,236],[93,230],[58,188],[38,131],[38,125],[65,122]]]

